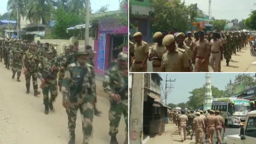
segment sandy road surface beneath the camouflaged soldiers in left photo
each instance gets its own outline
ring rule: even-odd
[[[54,111],[45,115],[42,94],[34,97],[26,94],[24,75],[20,83],[11,79],[12,72],[0,63],[0,144],[67,144],[68,120],[62,107],[62,95],[58,93]],[[90,144],[106,144],[110,141],[108,110],[109,101],[102,89],[102,81],[97,80],[98,109],[100,117],[94,117],[94,134]],[[40,90],[41,91],[41,90]],[[118,142],[123,143],[125,123],[123,117],[119,125]],[[78,112],[76,120],[76,143],[82,143],[82,123]]]

